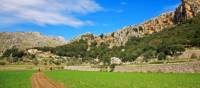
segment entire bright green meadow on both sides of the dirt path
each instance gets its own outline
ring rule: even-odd
[[[31,88],[36,72],[0,71],[0,88]],[[66,88],[200,88],[199,73],[112,73],[54,70],[45,71],[50,80]]]

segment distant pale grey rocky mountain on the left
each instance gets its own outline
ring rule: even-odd
[[[0,53],[12,47],[26,49],[62,44],[65,44],[64,38],[48,37],[38,32],[0,32]]]

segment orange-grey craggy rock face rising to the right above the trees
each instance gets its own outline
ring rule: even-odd
[[[159,32],[170,28],[183,20],[193,18],[200,12],[200,0],[182,0],[182,3],[174,12],[161,14],[139,25],[131,25],[116,32],[106,35],[103,39],[96,38],[100,42],[108,42],[110,46],[125,45],[130,37],[143,37],[147,34]],[[98,42],[97,41],[97,42]]]

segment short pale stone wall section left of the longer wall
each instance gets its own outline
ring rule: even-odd
[[[100,71],[100,68],[92,66],[65,66],[65,70],[77,70],[77,71]]]

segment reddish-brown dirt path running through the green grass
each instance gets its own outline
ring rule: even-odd
[[[32,88],[64,88],[64,86],[50,81],[41,72],[37,72],[32,76]]]

